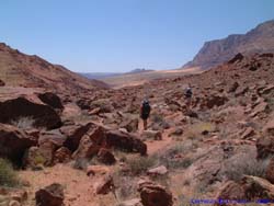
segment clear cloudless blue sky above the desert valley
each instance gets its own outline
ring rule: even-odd
[[[271,19],[273,0],[1,0],[0,42],[73,71],[174,69]]]

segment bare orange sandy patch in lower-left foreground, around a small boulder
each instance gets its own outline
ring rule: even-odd
[[[31,187],[27,187],[31,197],[28,206],[35,205],[35,201],[32,199],[35,192],[52,183],[60,183],[65,186],[66,206],[96,206],[92,188],[94,182],[83,171],[75,170],[71,165],[57,164],[45,168],[44,171],[22,171],[20,178],[31,183]]]

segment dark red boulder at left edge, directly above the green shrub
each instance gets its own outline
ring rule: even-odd
[[[11,125],[0,124],[0,157],[21,163],[27,148],[37,145],[37,139]]]

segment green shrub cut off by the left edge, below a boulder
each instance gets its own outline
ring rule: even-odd
[[[16,172],[13,170],[10,161],[0,159],[0,185],[14,187],[19,185]]]

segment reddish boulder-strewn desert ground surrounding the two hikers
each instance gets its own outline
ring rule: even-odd
[[[238,54],[202,75],[118,90],[53,93],[3,82],[0,156],[12,161],[20,184],[2,188],[0,204],[273,201],[273,54]],[[189,83],[191,111],[183,99]],[[152,106],[145,131],[144,96]]]

